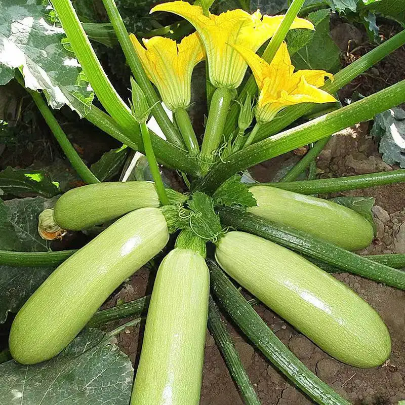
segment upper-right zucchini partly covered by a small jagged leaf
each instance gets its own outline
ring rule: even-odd
[[[340,204],[271,186],[253,186],[249,191],[257,207],[248,211],[259,217],[292,226],[350,251],[364,249],[373,240],[370,222]]]

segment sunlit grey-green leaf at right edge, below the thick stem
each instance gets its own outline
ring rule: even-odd
[[[378,150],[388,165],[405,168],[405,111],[392,108],[377,114],[371,135],[380,141]]]

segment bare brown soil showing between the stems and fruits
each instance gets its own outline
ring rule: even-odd
[[[345,31],[346,28],[343,30]],[[387,33],[388,36],[390,34]],[[338,32],[337,35],[341,34]],[[361,46],[361,41],[365,41],[365,39],[360,36],[358,41],[360,44],[357,45]],[[342,43],[341,47],[342,50],[345,50],[347,42]],[[364,51],[367,47],[367,45],[360,47],[356,52]],[[349,54],[346,56],[348,57]],[[356,58],[358,55],[353,57]],[[391,64],[380,63],[372,74],[378,74],[380,78],[387,78],[388,71],[390,79],[393,75],[398,74],[402,76],[401,78],[405,77],[403,63],[398,69],[398,61],[405,60],[404,49],[400,49],[390,58],[392,59]],[[346,94],[351,94],[354,90],[353,87],[360,93],[368,94],[372,82],[375,83],[374,90],[376,91],[379,90],[380,85],[386,87],[390,80],[365,76],[362,81],[356,82],[354,86],[352,85],[342,92],[341,96],[344,98]],[[318,158],[319,177],[337,177],[395,169],[395,167],[383,163],[373,140],[368,135],[369,130],[369,124],[363,124],[335,136]],[[271,181],[277,168],[289,157],[291,154],[265,162],[253,168],[252,174],[260,181]],[[375,197],[377,207],[374,209],[374,216],[378,232],[372,246],[365,253],[405,253],[405,184],[373,187],[336,195]],[[121,291],[111,298],[106,306],[115,305],[118,299],[130,301],[150,293],[154,274],[154,271],[141,269]],[[369,302],[386,323],[392,338],[392,353],[383,366],[363,370],[344,365],[324,353],[265,306],[256,305],[255,309],[277,337],[312,372],[353,404],[396,405],[399,400],[405,399],[405,292],[346,273],[337,275],[337,278]],[[143,327],[144,324],[140,327],[129,328],[117,336],[119,346],[129,354],[135,362],[135,367],[139,358]],[[263,405],[311,403],[228,322],[227,328]],[[214,340],[208,332],[200,403],[201,405],[239,405],[243,403]]]

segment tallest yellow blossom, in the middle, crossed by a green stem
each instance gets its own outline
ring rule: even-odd
[[[236,89],[247,69],[246,62],[230,45],[239,45],[256,52],[278,28],[284,15],[270,17],[237,9],[219,16],[203,14],[199,6],[176,1],[159,4],[154,11],[168,11],[189,21],[197,30],[207,53],[210,81],[215,87]],[[314,29],[310,21],[295,18],[290,29]]]

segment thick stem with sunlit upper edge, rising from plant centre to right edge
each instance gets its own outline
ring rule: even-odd
[[[233,174],[264,160],[308,145],[405,101],[405,80],[337,111],[315,118],[309,123],[284,131],[271,138],[230,155],[226,163],[218,163],[201,182],[199,189],[212,193]]]

